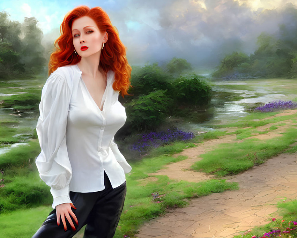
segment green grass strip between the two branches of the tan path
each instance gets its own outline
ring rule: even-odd
[[[214,173],[218,177],[238,174],[266,159],[282,153],[297,139],[297,129],[288,129],[282,137],[269,140],[246,139],[241,143],[224,143],[213,151],[200,155],[203,159],[192,165],[192,169]]]

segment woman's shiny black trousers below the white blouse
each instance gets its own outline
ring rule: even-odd
[[[78,219],[78,226],[72,219],[75,231],[72,231],[67,218],[67,231],[64,231],[61,219],[58,226],[56,209],[53,209],[32,238],[69,238],[84,225],[86,228],[83,238],[112,238],[124,206],[126,181],[113,189],[104,172],[104,185],[105,189],[99,192],[70,191],[70,199],[76,207],[76,210],[72,208],[72,211]]]

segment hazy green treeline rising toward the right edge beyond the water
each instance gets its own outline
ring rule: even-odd
[[[273,35],[263,32],[258,48],[248,56],[242,52],[228,54],[214,77],[246,74],[255,77],[297,78],[297,9],[290,8],[290,24],[282,24]]]

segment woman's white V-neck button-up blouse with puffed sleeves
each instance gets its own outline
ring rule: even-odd
[[[113,82],[114,72],[108,71],[102,111],[77,65],[57,68],[43,86],[36,126],[41,152],[36,165],[40,178],[51,187],[53,208],[71,203],[69,191],[102,191],[104,171],[113,188],[124,183],[125,173],[131,171],[113,141],[126,121]]]

